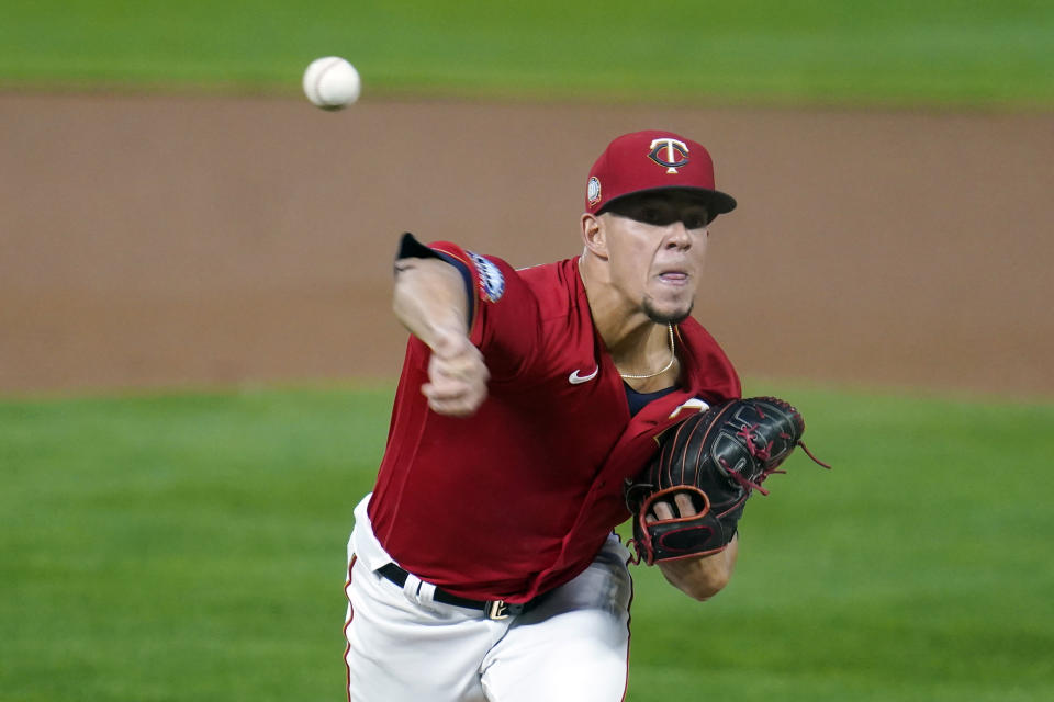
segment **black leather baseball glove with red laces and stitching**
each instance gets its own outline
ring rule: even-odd
[[[747,498],[801,445],[805,421],[775,397],[735,399],[693,415],[668,431],[658,456],[626,488],[638,559],[687,558],[722,551],[736,534]],[[817,461],[812,454],[809,457]],[[696,513],[649,520],[659,501],[691,499]],[[682,498],[683,499],[683,498]]]

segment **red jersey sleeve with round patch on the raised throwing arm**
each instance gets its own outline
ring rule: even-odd
[[[483,352],[492,380],[512,380],[531,365],[540,351],[538,301],[512,265],[450,241],[425,246],[412,235],[404,235],[400,258],[439,258],[461,272],[469,338]]]

